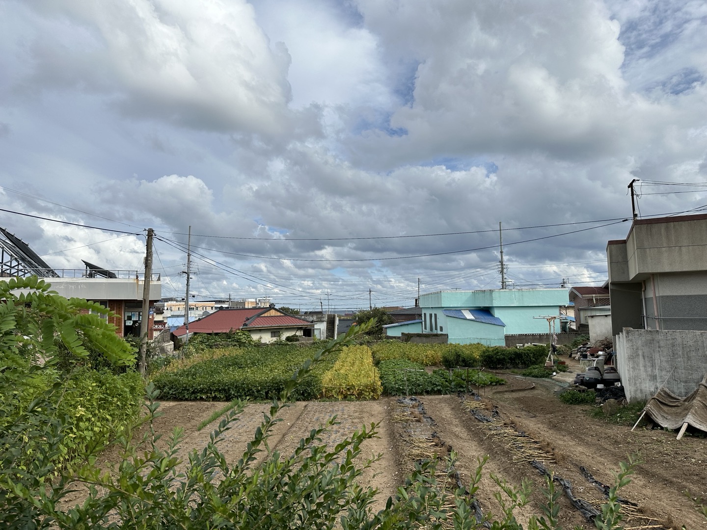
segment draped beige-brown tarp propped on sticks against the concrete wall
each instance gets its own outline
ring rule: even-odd
[[[655,423],[667,429],[679,429],[683,423],[689,423],[707,431],[707,375],[695,391],[684,398],[660,387],[643,410]]]

